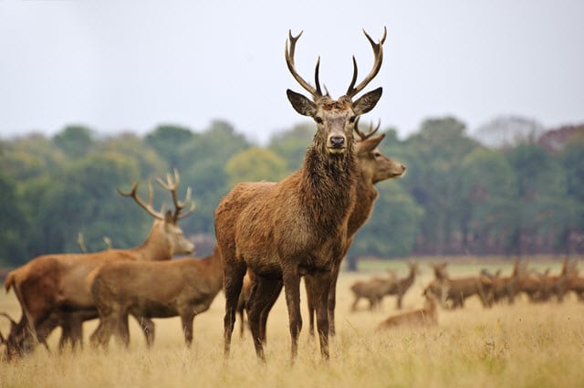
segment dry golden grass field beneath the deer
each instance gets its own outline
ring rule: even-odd
[[[538,265],[547,266],[546,263]],[[306,299],[298,359],[289,363],[289,334],[284,298],[268,320],[266,365],[255,360],[249,332],[239,338],[236,323],[232,357],[223,359],[224,297],[219,294],[207,312],[194,320],[193,347],[183,345],[178,319],[155,320],[151,350],[131,321],[129,350],[112,341],[108,351],[86,345],[83,351],[48,353],[38,348],[16,362],[0,360],[0,387],[583,387],[584,303],[574,297],[562,303],[497,305],[484,309],[469,299],[464,309],[439,310],[438,326],[400,328],[383,333],[375,326],[396,312],[395,299],[383,300],[381,311],[351,312],[349,286],[358,279],[383,275],[387,263],[365,265],[367,272],[339,278],[337,337],[331,359],[323,362],[318,341],[309,338]],[[389,267],[389,266],[388,266]],[[391,267],[404,276],[403,262]],[[481,265],[453,264],[451,276],[475,274]],[[510,264],[493,264],[510,271]],[[554,273],[558,262],[549,265]],[[422,288],[432,278],[430,267],[404,299],[404,310],[422,306]],[[153,285],[155,287],[155,285]],[[0,296],[0,311],[20,317],[13,293]],[[86,337],[97,322],[85,326]],[[0,330],[8,329],[0,320]],[[49,338],[57,348],[59,332]],[[87,341],[86,341],[87,343]]]

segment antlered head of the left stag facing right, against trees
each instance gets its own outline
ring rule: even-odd
[[[118,189],[118,193],[122,196],[129,196],[134,199],[137,204],[146,210],[155,218],[152,228],[159,228],[162,236],[166,237],[167,244],[171,246],[172,253],[175,255],[190,255],[194,251],[194,244],[183,234],[183,229],[178,225],[178,221],[187,215],[191,215],[194,211],[194,204],[191,204],[191,187],[187,188],[186,198],[184,201],[179,201],[176,193],[178,185],[181,181],[179,173],[174,170],[174,177],[169,173],[166,175],[166,182],[157,178],[157,182],[161,184],[162,188],[168,190],[172,194],[172,202],[174,203],[174,211],[168,210],[164,212],[161,210],[157,212],[152,206],[152,185],[149,183],[149,200],[144,202],[138,196],[138,182],[132,185],[129,193],[124,193]],[[190,207],[189,207],[189,204]],[[186,211],[185,211],[186,209]]]

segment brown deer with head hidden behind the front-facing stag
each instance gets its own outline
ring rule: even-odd
[[[115,334],[127,347],[131,314],[139,321],[180,316],[190,346],[194,316],[209,309],[223,288],[223,267],[215,247],[203,259],[110,262],[91,271],[86,281],[99,311],[93,344],[105,347]]]

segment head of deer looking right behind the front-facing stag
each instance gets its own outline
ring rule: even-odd
[[[380,129],[380,124],[365,133],[360,131],[359,120],[355,123],[358,141],[356,142],[355,154],[359,163],[360,172],[364,178],[372,183],[384,181],[391,178],[399,178],[405,173],[405,166],[388,158],[379,149],[379,144],[385,137],[385,134],[373,136]]]

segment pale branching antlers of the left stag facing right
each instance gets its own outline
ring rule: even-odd
[[[191,202],[191,188],[190,187],[187,188],[186,198],[183,202],[180,202],[178,200],[178,197],[176,194],[176,189],[178,187],[178,184],[181,182],[181,179],[180,179],[179,173],[176,171],[176,169],[174,170],[174,180],[172,180],[172,176],[169,173],[166,175],[166,183],[164,183],[164,181],[162,181],[162,179],[160,179],[160,178],[157,178],[157,181],[159,184],[162,185],[162,187],[164,189],[166,189],[172,193],[172,202],[174,202],[174,214],[172,215],[172,219],[174,220],[174,222],[176,222],[179,219],[182,219],[182,218],[186,217],[187,215],[190,215],[191,213],[193,213],[194,204],[191,205],[191,208],[186,213],[181,214],[181,212],[187,206],[187,204],[189,202]],[[137,204],[140,204],[141,207],[143,209],[145,209],[154,218],[158,218],[159,220],[163,220],[164,214],[162,212],[157,212],[156,210],[154,210],[154,208],[152,206],[152,197],[153,197],[152,192],[153,192],[152,184],[151,184],[151,182],[149,182],[148,183],[148,203],[146,203],[140,198],[140,196],[138,196],[138,182],[136,182],[135,184],[132,184],[131,190],[129,193],[124,193],[120,189],[118,189],[118,193],[120,193],[120,195],[133,198]]]

